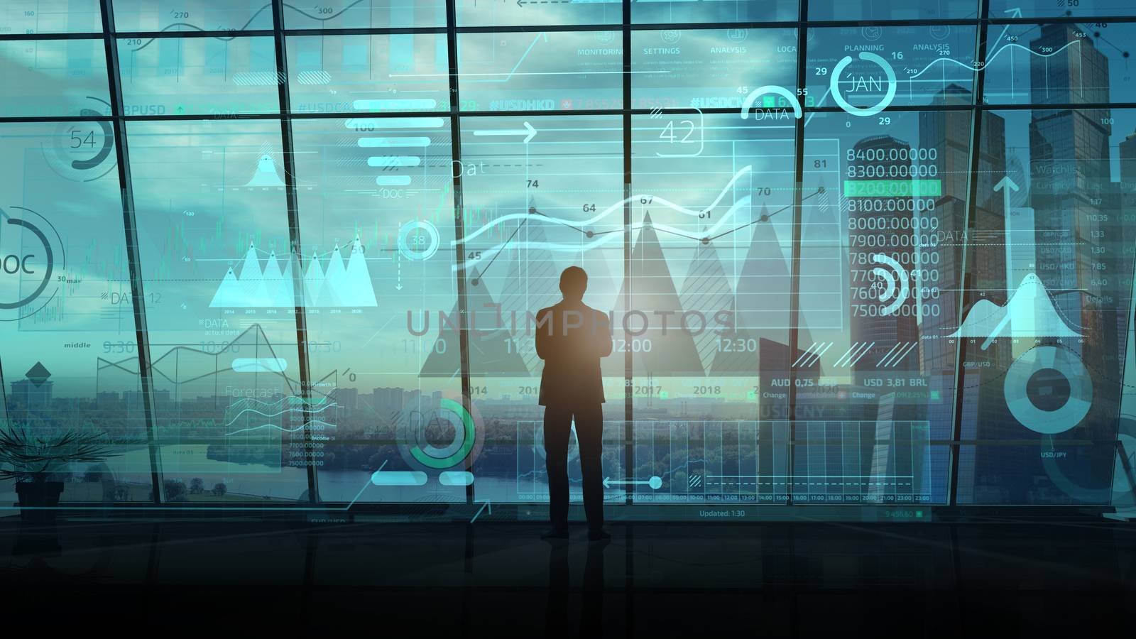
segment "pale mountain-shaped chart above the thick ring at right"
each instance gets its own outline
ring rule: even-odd
[[[1021,280],[1005,306],[979,300],[951,338],[984,338],[983,348],[994,338],[1078,338],[1061,317],[1045,284],[1030,273]]]

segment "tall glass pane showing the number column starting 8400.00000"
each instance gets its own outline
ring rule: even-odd
[[[953,90],[933,98],[967,103]],[[843,113],[805,121],[801,326],[816,387],[797,390],[794,500],[946,499],[955,345],[969,197],[970,114]],[[991,124],[994,127],[994,124]],[[984,158],[983,175],[996,171]],[[833,215],[821,205],[835,205]],[[808,209],[807,209],[808,210]],[[993,225],[993,223],[991,223]],[[835,231],[835,233],[834,233]],[[846,249],[834,252],[837,243]],[[835,259],[834,259],[835,258]],[[836,260],[841,264],[837,264]],[[996,264],[995,264],[996,267]],[[838,280],[843,308],[826,313]],[[836,309],[833,309],[834,312]],[[813,325],[812,317],[822,322]],[[797,356],[800,357],[800,356]]]

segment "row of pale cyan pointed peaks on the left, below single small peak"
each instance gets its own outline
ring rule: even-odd
[[[295,294],[292,259],[281,260],[273,252],[264,268],[257,249],[249,246],[237,275],[232,267],[225,273],[209,306],[212,308],[293,308]],[[344,264],[336,244],[331,258],[321,264],[317,256],[308,262],[303,274],[303,305],[307,308],[375,307],[375,289],[364,257],[362,244],[356,238]]]

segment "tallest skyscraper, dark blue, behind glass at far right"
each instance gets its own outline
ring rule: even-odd
[[[1072,43],[1072,44],[1070,44]],[[1109,100],[1108,60],[1078,25],[1044,25],[1031,40],[1030,98],[1035,103],[1100,105]],[[1051,49],[1052,48],[1052,49]],[[1109,276],[1122,250],[1119,211],[1109,210],[1111,111],[1102,108],[1035,109],[1029,123],[1030,204],[1035,211],[1037,275],[1054,292],[1059,313],[1081,340],[1063,340],[1088,366],[1094,397],[1076,434],[1105,441],[1116,437],[1121,362],[1117,300],[1130,285]],[[1125,293],[1127,294],[1127,293]],[[1127,309],[1125,309],[1127,312]],[[1055,342],[1056,340],[1045,340]],[[1079,486],[1104,486],[1112,451],[1080,447],[1066,467]],[[1021,471],[1027,474],[1024,467]],[[1045,471],[1037,468],[1035,475]]]

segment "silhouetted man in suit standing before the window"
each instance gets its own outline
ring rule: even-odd
[[[610,539],[603,530],[603,379],[600,358],[611,355],[607,314],[584,304],[587,273],[569,266],[560,274],[565,298],[536,314],[536,355],[544,360],[540,404],[544,406],[544,463],[549,471],[552,529],[544,538],[568,537],[568,438],[576,421],[584,474],[587,538]]]

